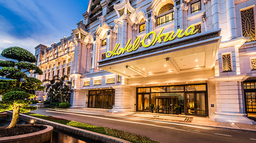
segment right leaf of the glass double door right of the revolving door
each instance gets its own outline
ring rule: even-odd
[[[205,99],[204,93],[196,94],[196,113],[197,115],[205,115]]]

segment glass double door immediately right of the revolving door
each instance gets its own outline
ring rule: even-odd
[[[187,114],[206,115],[205,93],[187,93]]]

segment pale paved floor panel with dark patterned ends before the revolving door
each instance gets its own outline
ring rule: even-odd
[[[159,114],[147,114],[147,113],[132,113],[126,116],[130,117],[142,117],[148,119],[159,119],[159,120],[168,120],[168,121],[178,121],[178,122],[192,122],[193,117],[186,116],[172,116],[172,115],[159,115]]]

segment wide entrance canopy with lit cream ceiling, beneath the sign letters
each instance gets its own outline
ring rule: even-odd
[[[220,45],[220,29],[150,47],[139,47],[98,61],[99,68],[126,78],[211,70]]]

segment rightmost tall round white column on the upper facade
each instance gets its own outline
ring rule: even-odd
[[[226,16],[227,16],[227,32],[228,40],[237,38],[236,19],[235,19],[235,2],[234,0],[226,0]]]

